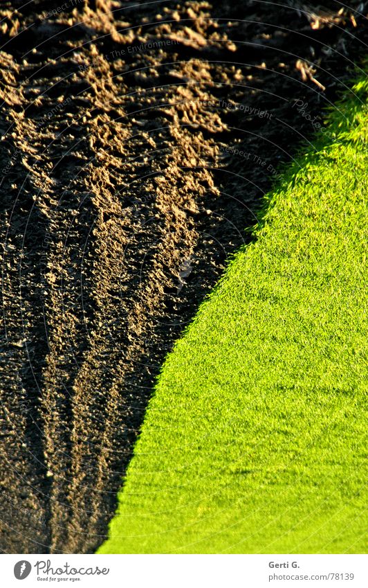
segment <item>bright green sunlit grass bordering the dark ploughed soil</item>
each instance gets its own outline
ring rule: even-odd
[[[367,80],[163,366],[98,553],[360,553]]]

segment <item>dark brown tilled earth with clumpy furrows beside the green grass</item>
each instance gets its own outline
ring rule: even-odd
[[[102,543],[159,366],[367,6],[1,3],[1,551]]]

